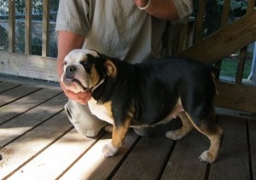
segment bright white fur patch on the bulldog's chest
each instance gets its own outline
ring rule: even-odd
[[[113,119],[109,116],[106,107],[104,107],[102,104],[97,104],[96,100],[92,97],[90,98],[88,105],[90,112],[96,115],[98,119],[102,119],[113,125]]]

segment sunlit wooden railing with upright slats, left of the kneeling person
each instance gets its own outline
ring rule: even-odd
[[[58,81],[56,60],[49,57],[49,0],[44,0],[42,55],[32,54],[32,0],[25,1],[25,53],[15,53],[15,1],[9,0],[9,51],[0,51],[0,73]]]

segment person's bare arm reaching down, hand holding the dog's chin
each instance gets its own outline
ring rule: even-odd
[[[66,32],[66,31],[58,31],[58,57],[57,57],[57,74],[59,78],[63,73],[63,65],[64,65],[64,58],[65,56],[73,49],[81,49],[84,44],[84,37],[73,33],[73,32]],[[61,83],[61,89],[64,91],[65,95],[68,99],[74,100],[81,104],[86,104],[90,99],[90,93],[80,92],[78,94],[73,93]]]

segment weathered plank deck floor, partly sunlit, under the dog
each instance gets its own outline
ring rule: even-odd
[[[80,136],[58,88],[0,78],[0,100],[0,179],[256,179],[256,119],[218,115],[225,136],[212,165],[198,160],[209,146],[205,136],[192,131],[174,142],[166,126],[154,136],[131,130],[119,154],[106,159],[101,149],[110,133]]]

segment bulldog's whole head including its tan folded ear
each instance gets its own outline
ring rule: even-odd
[[[104,78],[115,77],[116,67],[107,56],[91,49],[74,49],[64,58],[61,81],[67,90],[94,90]]]

